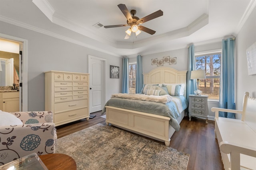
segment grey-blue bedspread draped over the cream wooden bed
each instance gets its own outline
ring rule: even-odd
[[[188,107],[188,102],[184,96],[172,96],[173,98],[180,101],[180,106],[182,110]],[[177,101],[177,100],[176,100]],[[163,104],[160,102],[150,102],[144,100],[133,100],[133,99],[123,99],[123,98],[111,98],[105,104],[105,106],[119,107],[123,109],[129,109],[134,111],[141,111],[145,113],[152,113],[156,115],[162,115],[170,117],[170,125],[176,130],[180,130],[180,125],[177,121],[177,118],[180,116],[180,113],[177,109],[177,102],[168,102]],[[106,107],[102,109],[102,114],[106,111]]]

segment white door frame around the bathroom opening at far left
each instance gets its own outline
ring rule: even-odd
[[[22,83],[22,86],[20,86],[19,91],[19,111],[28,111],[28,41],[26,39],[21,39],[18,37],[13,37],[11,35],[6,35],[2,33],[0,33],[0,39],[19,43],[19,83]]]

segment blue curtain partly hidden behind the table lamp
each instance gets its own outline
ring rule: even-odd
[[[186,98],[189,101],[190,94],[194,94],[196,90],[196,80],[190,79],[191,71],[195,70],[195,52],[194,44],[188,47],[188,72],[187,72],[187,89],[186,89]]]

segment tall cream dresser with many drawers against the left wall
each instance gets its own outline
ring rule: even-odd
[[[56,126],[89,120],[89,74],[45,72],[45,110],[52,111]]]

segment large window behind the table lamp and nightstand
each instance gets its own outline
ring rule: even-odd
[[[201,79],[199,89],[209,99],[219,100],[221,51],[195,54],[196,70],[205,70],[206,79]]]

